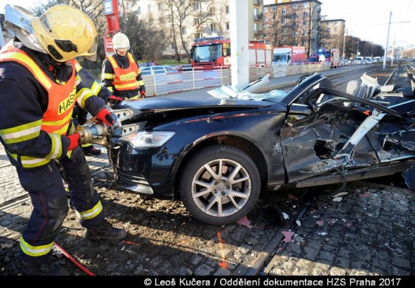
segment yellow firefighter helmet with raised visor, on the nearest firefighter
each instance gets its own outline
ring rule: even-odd
[[[94,56],[98,33],[94,23],[81,10],[69,5],[55,5],[40,17],[26,9],[7,5],[4,27],[24,46],[49,54],[64,62],[77,56]]]

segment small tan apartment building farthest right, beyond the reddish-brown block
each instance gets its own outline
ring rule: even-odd
[[[343,55],[345,28],[344,19],[321,20],[321,45],[328,49],[339,49],[340,55]]]

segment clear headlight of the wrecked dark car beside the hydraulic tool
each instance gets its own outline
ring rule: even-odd
[[[157,148],[163,146],[175,133],[173,131],[142,131],[129,134],[122,141],[130,143],[133,148]]]

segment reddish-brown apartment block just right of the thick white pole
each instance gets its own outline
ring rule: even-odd
[[[265,4],[263,38],[274,46],[305,46],[311,55],[319,43],[321,4],[318,0],[275,0]]]

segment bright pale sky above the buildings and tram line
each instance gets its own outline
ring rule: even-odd
[[[4,13],[6,3],[20,5],[26,9],[44,0],[0,0],[0,13]],[[392,24],[390,41],[396,37],[397,45],[415,45],[415,0],[319,0],[322,2],[321,15],[326,19],[345,19],[349,34],[386,45],[389,12],[392,22],[411,21]],[[264,4],[275,0],[264,0]],[[400,42],[398,42],[400,41]]]

